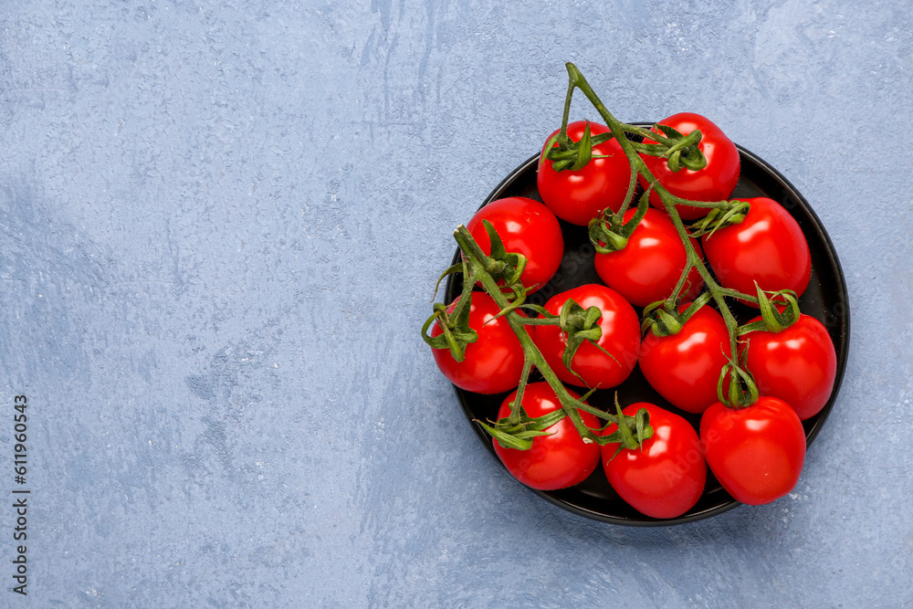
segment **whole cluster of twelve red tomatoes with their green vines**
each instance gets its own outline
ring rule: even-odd
[[[480,423],[532,488],[579,484],[602,463],[632,507],[675,518],[697,503],[709,467],[734,499],[778,499],[802,471],[802,421],[824,408],[836,373],[828,332],[798,306],[811,274],[803,232],[772,199],[729,200],[740,156],[713,122],[621,123],[568,72],[561,129],[540,155],[542,202],[500,199],[457,228],[462,259],[442,278],[462,274],[463,291],[435,305],[425,341],[458,387],[511,392],[497,420]],[[605,125],[569,123],[575,89]],[[603,283],[533,305],[561,265],[558,218],[589,227]],[[740,325],[733,299],[760,315]],[[698,429],[656,404],[587,403],[637,364],[669,404],[701,415]],[[530,382],[533,370],[542,381]]]

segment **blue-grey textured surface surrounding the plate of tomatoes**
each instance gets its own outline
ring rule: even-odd
[[[0,505],[14,394],[33,495],[26,599],[0,508],[0,605],[910,604],[909,9],[5,3]],[[567,60],[624,121],[711,117],[834,240],[853,350],[772,505],[662,530],[552,507],[419,338]]]

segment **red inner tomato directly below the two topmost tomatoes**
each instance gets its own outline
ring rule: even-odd
[[[635,209],[626,211],[624,222],[635,213]],[[691,239],[691,245],[701,255],[697,239]],[[666,299],[675,289],[686,262],[685,246],[678,238],[676,227],[668,215],[656,209],[646,210],[624,249],[611,254],[597,253],[595,258],[599,278],[636,307]],[[682,299],[695,299],[703,287],[698,269],[692,268]]]

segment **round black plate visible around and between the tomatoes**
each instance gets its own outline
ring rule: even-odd
[[[846,366],[846,354],[849,350],[850,310],[844,274],[840,268],[840,262],[837,259],[830,237],[827,236],[824,226],[821,225],[821,221],[814,214],[812,207],[808,205],[803,195],[799,194],[786,178],[759,157],[741,147],[739,147],[739,153],[741,157],[741,175],[739,184],[736,186],[731,198],[770,197],[782,204],[796,219],[799,226],[802,227],[812,252],[812,279],[809,282],[808,289],[805,290],[802,298],[799,299],[799,304],[803,313],[812,315],[824,323],[824,326],[831,334],[831,338],[834,340],[834,348],[837,352],[837,376],[834,380],[834,391],[831,393],[831,398],[818,415],[803,422],[806,442],[811,445],[822,425],[824,425],[827,415],[830,414],[831,409],[834,407],[834,400],[840,389]],[[538,159],[539,155],[536,154],[510,173],[488,195],[482,205],[488,205],[492,201],[508,196],[525,196],[541,201],[539,191],[536,188],[536,164]],[[573,226],[562,220],[560,222],[564,236],[564,257],[561,260],[561,268],[558,269],[555,277],[547,285],[530,296],[530,302],[535,304],[542,305],[552,295],[565,289],[571,289],[585,283],[602,283],[593,265],[593,246],[587,236],[586,227]],[[454,264],[458,262],[459,250],[457,249],[454,255]],[[446,283],[446,302],[451,302],[455,299],[461,289],[461,278],[451,275]],[[732,304],[730,309],[740,323],[757,315],[757,310],[738,303]],[[637,309],[635,308],[635,310]],[[641,310],[637,310],[637,312],[640,314]],[[535,381],[538,379],[531,378],[530,380]],[[485,421],[494,419],[498,412],[498,406],[507,394],[482,395],[472,394],[458,387],[455,387],[455,389],[456,396],[463,406],[470,425],[476,430],[482,444],[488,448],[492,455],[495,455],[494,448],[491,446],[491,437],[473,420],[481,419]],[[615,391],[618,392],[621,404],[640,401],[651,402],[684,416],[692,425],[695,425],[695,428],[698,427],[700,415],[684,413],[668,404],[646,383],[639,366],[635,366],[634,372],[620,386],[610,390],[597,391],[588,402],[597,408],[607,410],[612,404]],[[498,457],[496,456],[495,458]],[[500,463],[499,459],[498,463]],[[682,516],[667,520],[649,518],[631,508],[609,486],[602,467],[596,467],[590,478],[572,488],[556,491],[540,491],[531,488],[530,490],[541,498],[547,499],[551,503],[576,514],[595,520],[628,526],[652,527],[694,522],[710,516],[716,516],[727,509],[740,505],[719,485],[719,482],[716,478],[713,478],[709,470],[707,486],[704,488],[704,494],[698,500],[697,505]]]

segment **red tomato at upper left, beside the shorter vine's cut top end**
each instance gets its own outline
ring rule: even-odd
[[[466,225],[467,230],[478,247],[490,255],[491,242],[482,220],[491,223],[508,252],[526,257],[526,268],[520,280],[530,288],[530,293],[548,283],[561,266],[564,255],[561,225],[551,209],[539,201],[521,196],[498,199],[472,216]]]

